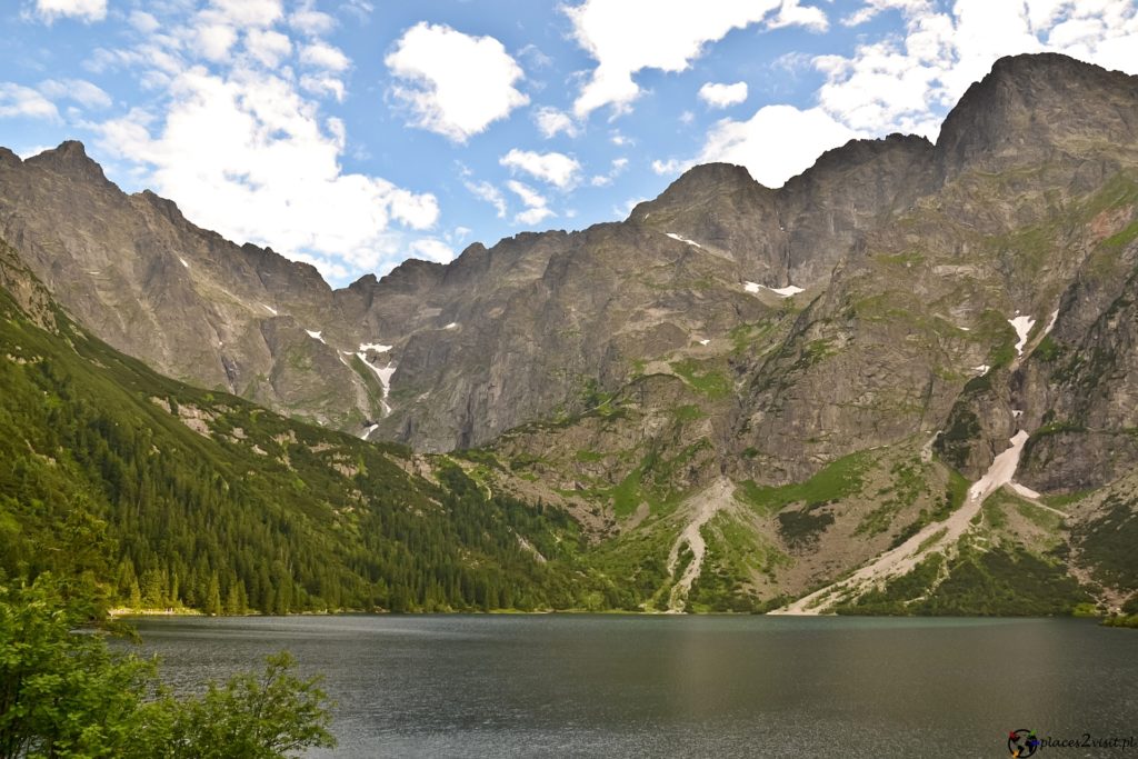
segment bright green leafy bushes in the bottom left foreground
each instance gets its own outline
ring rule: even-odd
[[[335,745],[327,698],[288,654],[179,700],[154,662],[76,632],[98,617],[82,584],[0,585],[0,757],[273,759]]]

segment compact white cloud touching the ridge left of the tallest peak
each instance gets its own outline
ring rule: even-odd
[[[698,162],[740,164],[756,181],[776,188],[810,167],[823,151],[855,137],[820,108],[765,106],[749,121],[717,123]]]

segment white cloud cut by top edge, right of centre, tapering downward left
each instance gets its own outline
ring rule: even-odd
[[[586,0],[566,13],[578,44],[597,63],[574,104],[580,118],[604,106],[626,110],[641,93],[634,74],[685,71],[732,30],[764,20],[825,25],[820,10],[799,8],[797,0]]]

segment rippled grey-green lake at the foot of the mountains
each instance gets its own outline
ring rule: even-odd
[[[1000,757],[1020,728],[1138,735],[1138,632],[1091,620],[343,616],[138,627],[179,688],[259,669],[281,649],[323,673],[339,746],[314,757]]]

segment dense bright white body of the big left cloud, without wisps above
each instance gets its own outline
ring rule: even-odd
[[[343,124],[322,122],[273,73],[190,67],[170,94],[164,118],[133,112],[105,123],[101,145],[142,164],[148,183],[197,224],[335,274],[377,269],[403,249],[393,226],[422,230],[438,218],[432,195],[343,173]]]

